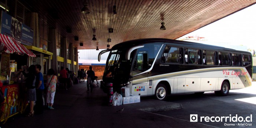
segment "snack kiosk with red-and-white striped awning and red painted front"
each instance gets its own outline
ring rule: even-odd
[[[23,74],[19,70],[27,70],[30,57],[36,55],[24,47],[13,37],[0,34],[0,91],[4,101],[0,105],[0,121],[15,114],[23,113],[26,101],[26,87]]]

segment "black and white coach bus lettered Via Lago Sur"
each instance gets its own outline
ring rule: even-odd
[[[214,91],[226,96],[230,89],[252,85],[252,54],[220,46],[171,39],[138,39],[118,43],[106,61],[114,90],[127,86],[130,93],[167,95]],[[104,77],[103,76],[103,77]]]

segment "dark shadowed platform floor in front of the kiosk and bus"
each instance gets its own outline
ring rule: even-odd
[[[10,117],[1,128],[213,128],[183,119],[147,112],[181,109],[181,104],[142,97],[140,103],[108,106],[108,98],[100,89],[86,92],[86,83],[74,85],[67,91],[56,92],[54,110],[41,115]],[[122,113],[116,112],[124,107]]]

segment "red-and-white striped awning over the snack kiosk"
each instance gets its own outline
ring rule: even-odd
[[[36,57],[34,53],[24,47],[19,41],[3,34],[0,34],[0,51],[6,53],[17,52],[19,55],[27,54],[28,56]]]

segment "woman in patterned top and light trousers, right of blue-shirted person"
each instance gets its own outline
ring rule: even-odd
[[[54,109],[52,107],[53,105],[53,100],[56,92],[56,83],[58,82],[57,76],[54,75],[54,70],[49,69],[47,72],[47,83],[46,83],[46,88],[47,88],[47,95],[46,95],[46,104],[48,105],[49,109]]]

